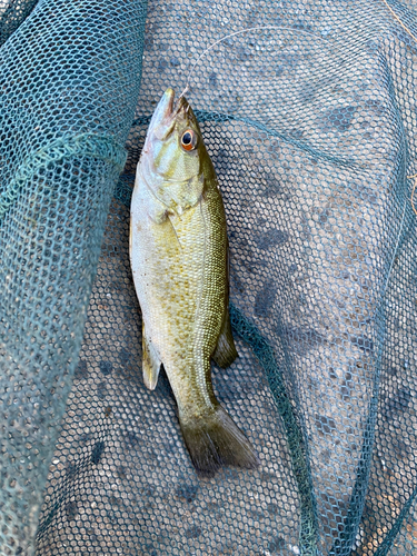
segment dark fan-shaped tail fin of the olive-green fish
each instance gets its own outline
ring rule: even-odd
[[[183,439],[198,473],[211,476],[221,466],[252,469],[258,456],[221,406],[195,420],[180,419]]]

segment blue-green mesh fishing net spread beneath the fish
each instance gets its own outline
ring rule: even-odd
[[[413,9],[0,0],[1,555],[417,554]],[[187,98],[260,466],[199,477],[143,386],[129,205],[163,90],[251,27]]]

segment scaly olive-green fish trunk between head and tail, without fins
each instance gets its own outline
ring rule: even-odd
[[[156,222],[149,212],[158,201],[145,182],[136,195],[133,278],[146,334],[163,361],[179,411],[199,413],[215,404],[209,361],[226,310],[226,222],[216,210],[221,199],[209,191],[181,216]]]

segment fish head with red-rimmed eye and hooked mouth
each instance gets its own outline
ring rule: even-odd
[[[181,215],[196,206],[203,192],[208,153],[190,105],[175,91],[165,91],[150,121],[140,171],[169,211]]]

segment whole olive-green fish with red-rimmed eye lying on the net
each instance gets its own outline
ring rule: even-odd
[[[142,374],[163,365],[191,461],[201,475],[255,468],[258,456],[217,400],[214,359],[238,356],[229,317],[229,248],[216,171],[191,106],[168,88],[149,125],[130,208],[130,265],[142,314]]]

